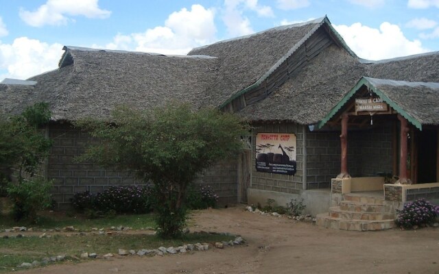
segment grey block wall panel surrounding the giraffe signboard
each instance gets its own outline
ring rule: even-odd
[[[256,171],[256,144],[252,142],[252,182],[250,188],[290,194],[300,194],[303,176],[303,134],[302,126],[294,123],[254,124],[252,138],[259,132],[296,134],[296,174],[283,175]]]

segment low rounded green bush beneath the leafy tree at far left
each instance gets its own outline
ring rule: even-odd
[[[32,223],[36,223],[36,213],[51,206],[50,189],[51,181],[44,179],[34,179],[29,181],[21,181],[20,183],[8,184],[8,195],[14,203],[14,218],[19,221],[21,219],[29,219]]]

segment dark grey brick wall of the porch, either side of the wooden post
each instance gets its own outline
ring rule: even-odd
[[[307,133],[307,189],[331,188],[340,173],[340,132]],[[348,132],[348,172],[352,177],[392,173],[392,125]]]

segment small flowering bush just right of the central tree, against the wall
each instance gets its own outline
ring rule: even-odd
[[[211,186],[200,185],[198,188],[189,190],[186,201],[187,207],[191,210],[215,208],[218,195],[215,194],[215,190]]]

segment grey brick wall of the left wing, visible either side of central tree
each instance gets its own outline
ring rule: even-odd
[[[102,192],[110,186],[144,184],[130,171],[103,169],[89,163],[76,163],[75,156],[92,142],[86,132],[80,132],[69,124],[50,125],[49,138],[54,140],[47,164],[47,177],[54,180],[52,197],[58,210],[70,208],[75,192],[88,190]],[[237,203],[237,160],[218,163],[197,179],[198,184],[209,184],[219,195],[220,203]]]

